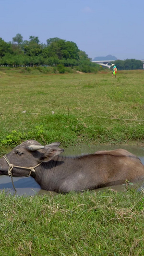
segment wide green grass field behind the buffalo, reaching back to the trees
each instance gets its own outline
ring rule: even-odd
[[[117,79],[110,71],[29,74],[1,68],[0,75],[1,146],[31,138],[62,146],[144,141],[144,122],[136,121],[144,120],[143,70],[121,71]],[[13,131],[17,138],[4,143]]]

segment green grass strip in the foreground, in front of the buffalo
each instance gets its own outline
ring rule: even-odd
[[[3,256],[144,255],[144,198],[128,190],[0,195]]]

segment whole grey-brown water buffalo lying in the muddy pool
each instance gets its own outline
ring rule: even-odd
[[[31,175],[42,189],[67,193],[144,178],[141,160],[124,149],[75,157],[59,156],[59,142],[42,146],[27,140],[0,158],[0,175]],[[11,174],[12,173],[12,174]]]

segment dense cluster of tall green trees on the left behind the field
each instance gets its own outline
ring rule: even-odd
[[[103,69],[91,62],[88,55],[78,49],[76,43],[58,37],[40,43],[38,37],[23,40],[21,34],[5,42],[0,38],[0,65],[4,66],[76,66],[82,72],[96,72]]]

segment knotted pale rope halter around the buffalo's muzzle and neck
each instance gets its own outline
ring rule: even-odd
[[[42,162],[40,162],[39,164],[37,164],[34,167],[23,167],[23,166],[17,166],[17,165],[11,164],[6,155],[4,155],[3,158],[6,160],[6,162],[9,165],[8,175],[11,176],[11,179],[12,179],[12,169],[13,169],[13,167],[30,170],[29,174],[26,176],[26,177],[29,177],[31,175],[32,171],[35,172],[35,168],[42,163]],[[14,190],[16,191],[16,189],[14,187],[14,184],[13,184],[13,180],[12,180],[12,185],[13,185]]]

